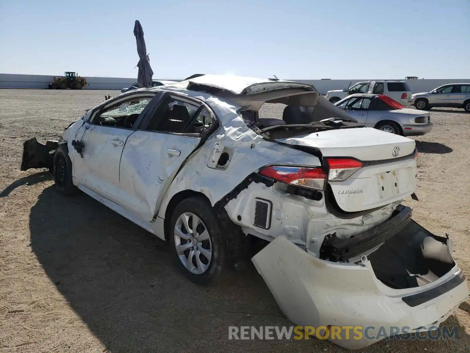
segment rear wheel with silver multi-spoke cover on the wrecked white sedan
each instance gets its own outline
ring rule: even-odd
[[[193,228],[196,217],[197,225]],[[209,201],[201,196],[185,199],[174,209],[169,231],[170,248],[176,267],[190,281],[208,285],[226,277],[221,276],[222,273],[228,274],[229,240],[239,234],[227,233],[227,225],[230,221],[224,222]],[[235,224],[232,226],[238,228]]]

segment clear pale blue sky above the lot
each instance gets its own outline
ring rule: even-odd
[[[141,4],[141,5],[138,5]],[[470,0],[0,0],[0,72],[470,78]]]

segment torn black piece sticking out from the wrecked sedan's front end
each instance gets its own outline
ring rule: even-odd
[[[30,138],[23,143],[23,158],[20,170],[30,168],[49,168],[52,170],[54,162],[54,151],[57,149],[58,141],[46,141],[41,144],[36,137]]]

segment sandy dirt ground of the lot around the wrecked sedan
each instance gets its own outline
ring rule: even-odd
[[[57,139],[106,93],[0,89],[0,352],[347,352],[317,339],[228,340],[230,325],[292,325],[253,266],[198,287],[164,241],[85,194],[58,195],[47,171],[19,170],[24,140]],[[424,227],[450,234],[470,278],[470,114],[432,109],[431,120],[415,138],[419,201],[405,203]],[[457,340],[362,351],[470,352],[470,303],[445,324],[458,326]]]

